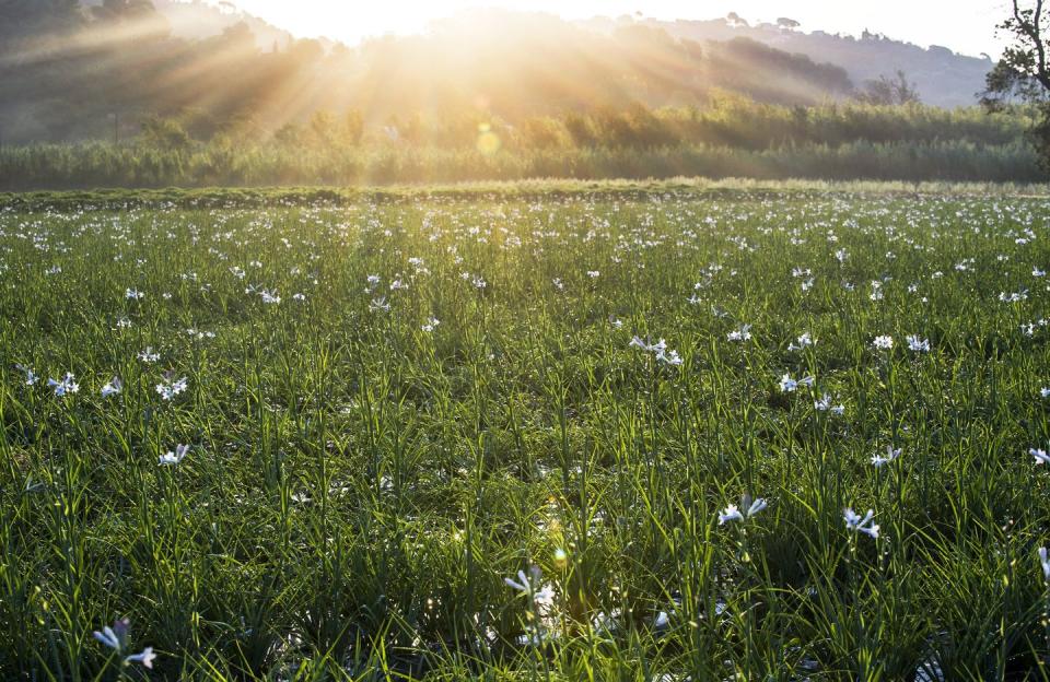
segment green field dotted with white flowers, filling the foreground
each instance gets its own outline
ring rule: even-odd
[[[1048,220],[4,197],[0,679],[1050,679]]]

